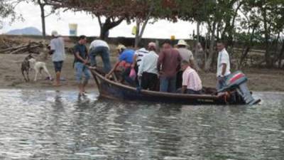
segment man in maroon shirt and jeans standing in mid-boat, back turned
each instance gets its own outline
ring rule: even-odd
[[[178,50],[171,46],[169,40],[166,40],[159,54],[157,66],[160,73],[160,92],[175,92],[176,76],[181,59]]]

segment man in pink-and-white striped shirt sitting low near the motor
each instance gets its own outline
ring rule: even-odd
[[[187,60],[182,60],[181,68],[182,73],[182,88],[178,90],[181,93],[187,94],[201,94],[202,82],[197,72],[190,67]]]

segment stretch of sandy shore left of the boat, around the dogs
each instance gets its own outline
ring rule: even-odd
[[[36,57],[37,55],[33,55]],[[1,88],[16,88],[16,89],[50,89],[50,90],[77,90],[77,85],[75,81],[75,70],[72,67],[73,63],[73,55],[67,55],[67,58],[63,64],[62,68],[62,86],[54,87],[53,81],[46,80],[47,75],[43,73],[43,75],[38,76],[38,80],[36,82],[33,81],[35,76],[34,70],[30,71],[30,82],[25,82],[23,79],[23,75],[21,74],[21,62],[26,57],[24,55],[4,55],[0,54],[1,63],[0,63],[0,84]],[[55,78],[55,71],[53,68],[53,63],[51,62],[51,58],[45,61],[47,63],[47,68]],[[89,80],[88,89],[95,88],[96,85],[94,80]]]

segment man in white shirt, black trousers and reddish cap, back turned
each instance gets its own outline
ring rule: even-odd
[[[149,53],[143,55],[137,75],[138,79],[141,79],[141,87],[143,90],[155,90],[158,82],[158,55],[155,53],[155,43],[149,43],[148,50]]]

